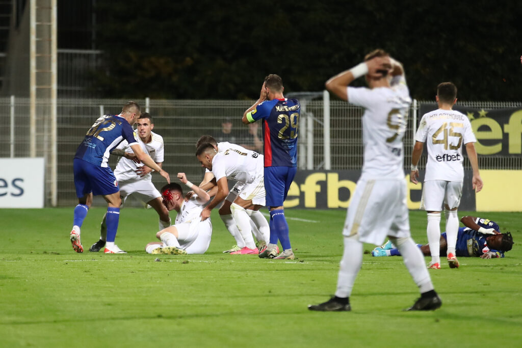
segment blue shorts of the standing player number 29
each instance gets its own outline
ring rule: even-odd
[[[265,167],[267,207],[282,207],[297,167]]]

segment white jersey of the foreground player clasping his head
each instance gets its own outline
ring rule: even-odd
[[[411,103],[403,75],[391,88],[348,87],[348,101],[364,107],[362,116],[363,179],[404,179],[402,138]]]

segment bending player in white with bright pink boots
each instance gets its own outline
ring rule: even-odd
[[[234,220],[238,224],[238,230],[243,237],[245,247],[233,251],[231,254],[258,255],[259,250],[256,248],[252,237],[252,228],[248,217],[253,217],[259,208],[265,206],[263,155],[244,148],[228,148],[218,152],[210,143],[205,143],[198,147],[196,157],[201,166],[210,170],[214,176],[212,181],[204,186],[216,185],[218,187],[212,201],[201,212],[201,218],[207,219],[211,210],[227,197],[229,194],[228,179],[242,184],[241,192],[230,208]],[[266,219],[264,221],[268,225]],[[269,228],[268,226],[268,230]]]

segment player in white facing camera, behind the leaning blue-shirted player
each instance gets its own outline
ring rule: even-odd
[[[152,160],[161,168],[163,164],[163,137],[152,131],[154,124],[149,113],[142,113],[136,122],[137,128],[134,131],[134,138],[139,143],[141,149],[148,153]],[[134,195],[142,202],[148,204],[156,210],[159,215],[159,229],[163,230],[170,226],[171,220],[169,211],[162,203],[161,194],[152,183],[152,170],[136,161],[136,155],[129,146],[127,140],[118,145],[111,154],[121,156],[114,169],[114,175],[120,185],[120,197],[122,206],[129,195]],[[100,228],[100,239],[91,245],[89,251],[99,251],[105,246],[107,234],[106,214],[103,217]]]

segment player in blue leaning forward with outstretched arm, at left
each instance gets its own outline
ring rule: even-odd
[[[107,163],[110,151],[121,141],[127,140],[136,157],[170,183],[169,173],[162,170],[141,149],[138,141],[134,138],[131,126],[136,122],[139,115],[139,105],[129,101],[123,106],[119,115],[101,116],[87,131],[84,141],[80,143],[76,150],[73,163],[78,205],[74,209],[73,230],[69,237],[73,249],[77,253],[84,251],[80,242],[80,227],[92,205],[93,195],[102,195],[108,206],[106,214],[107,237],[104,252],[106,254],[125,253],[114,244],[120,219],[121,198],[118,182]]]

